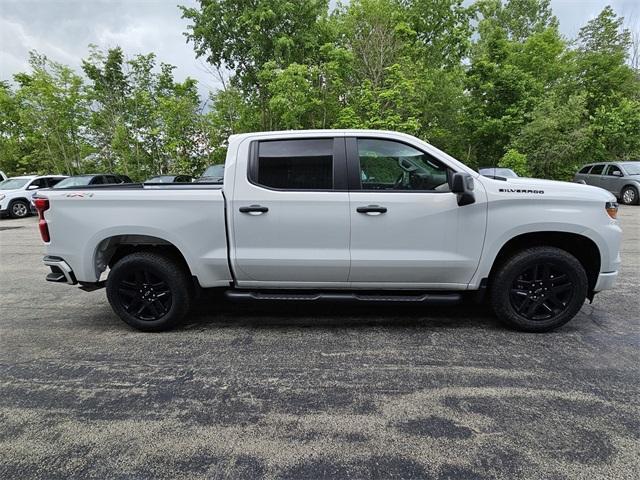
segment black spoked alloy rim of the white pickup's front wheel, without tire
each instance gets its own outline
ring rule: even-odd
[[[511,306],[519,315],[542,321],[562,314],[574,292],[574,284],[561,265],[538,262],[526,267],[513,281]]]

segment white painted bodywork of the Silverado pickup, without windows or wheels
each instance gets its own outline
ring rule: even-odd
[[[137,235],[174,245],[202,287],[477,289],[500,249],[531,232],[583,235],[601,256],[598,288],[620,264],[621,230],[604,208],[610,193],[586,185],[516,178],[494,180],[409,135],[366,131],[422,150],[473,176],[475,203],[451,192],[278,191],[247,171],[256,140],[358,137],[359,130],[265,132],[230,137],[222,189],[140,187],[42,191],[50,256],[81,282],[98,281],[109,238]],[[223,194],[224,192],[224,194]],[[265,214],[240,213],[260,204]],[[384,204],[384,215],[355,213]],[[228,239],[228,242],[227,242]],[[229,268],[231,266],[231,269]]]

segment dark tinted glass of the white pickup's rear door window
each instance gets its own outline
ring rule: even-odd
[[[251,179],[284,190],[333,188],[333,139],[276,140],[258,144]]]

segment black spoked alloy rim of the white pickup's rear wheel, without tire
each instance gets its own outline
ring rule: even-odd
[[[123,308],[138,320],[160,320],[171,309],[169,285],[151,270],[139,267],[128,272],[118,284]]]

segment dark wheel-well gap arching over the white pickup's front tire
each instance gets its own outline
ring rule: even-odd
[[[587,273],[589,292],[593,291],[600,273],[602,258],[598,245],[590,238],[572,232],[538,231],[517,235],[509,239],[498,251],[489,272],[491,279],[502,264],[516,252],[530,247],[556,247],[578,259]]]

